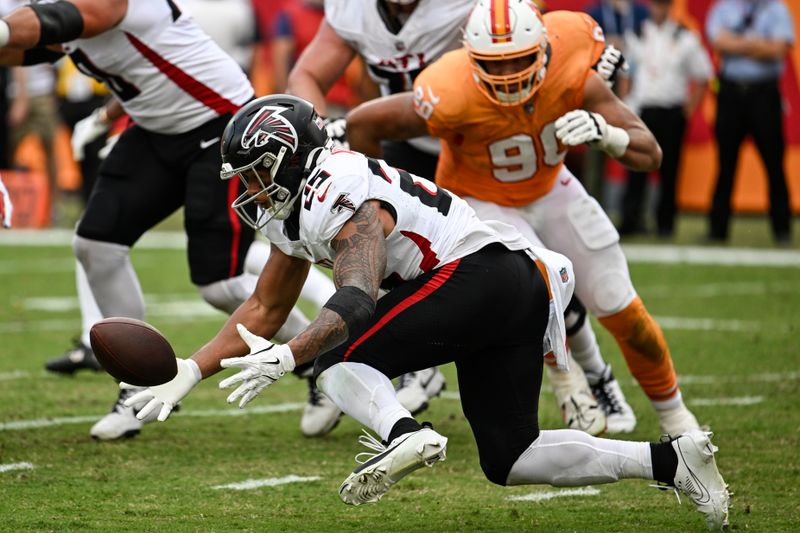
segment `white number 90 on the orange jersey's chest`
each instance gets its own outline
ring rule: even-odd
[[[566,150],[558,151],[556,127],[552,122],[542,128],[539,142],[545,165],[557,165],[567,154]],[[493,142],[489,145],[489,156],[492,160],[492,175],[498,181],[506,183],[530,179],[539,167],[534,139],[527,134],[512,135]]]

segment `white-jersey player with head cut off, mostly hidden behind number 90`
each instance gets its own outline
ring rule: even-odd
[[[391,95],[413,88],[416,76],[445,52],[461,46],[462,29],[474,0],[377,0],[364,4],[345,0],[325,3],[325,20],[289,75],[287,92],[305,98],[325,115],[324,95],[358,55],[381,94]],[[597,62],[605,79],[613,79],[622,61],[619,51],[609,48]],[[329,136],[346,144],[345,120],[328,119]],[[407,140],[385,140],[382,158],[419,176],[435,174],[439,141],[421,132]],[[533,241],[537,242],[538,241]],[[607,369],[607,379],[595,384],[600,405],[587,386],[581,367],[558,371],[548,366],[548,376],[568,427],[598,434],[629,432],[636,424],[633,410],[603,361],[591,322],[578,299],[568,310],[571,355],[587,368]],[[444,376],[435,368],[400,377],[398,398],[412,413],[427,407],[441,391]],[[600,394],[603,391],[603,394]]]

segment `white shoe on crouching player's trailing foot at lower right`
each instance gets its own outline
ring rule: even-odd
[[[675,488],[705,515],[709,530],[722,531],[728,525],[730,494],[714,460],[718,448],[711,444],[711,436],[711,432],[692,429],[672,441],[678,455]]]

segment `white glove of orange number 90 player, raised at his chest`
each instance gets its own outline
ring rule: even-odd
[[[556,138],[564,146],[586,143],[614,157],[621,157],[630,143],[627,131],[609,125],[599,113],[584,109],[575,109],[562,115],[556,120],[555,126]]]

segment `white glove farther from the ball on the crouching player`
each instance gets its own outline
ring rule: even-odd
[[[241,372],[219,383],[220,389],[227,389],[241,382],[241,385],[228,396],[228,403],[241,398],[239,408],[244,407],[258,394],[269,387],[287,372],[294,370],[294,355],[286,344],[272,344],[267,339],[250,333],[242,324],[236,324],[239,336],[250,347],[250,355],[230,357],[219,362],[223,368],[239,368]]]

